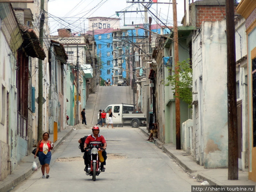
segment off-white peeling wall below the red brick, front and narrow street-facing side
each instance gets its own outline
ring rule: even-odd
[[[203,22],[201,30],[192,45],[195,159],[205,168],[227,167],[226,21]]]

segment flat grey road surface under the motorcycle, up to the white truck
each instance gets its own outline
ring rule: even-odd
[[[40,178],[41,170],[12,191],[15,192],[180,192],[191,191],[191,185],[200,185],[181,169],[137,128],[101,128],[108,143],[106,171],[96,181],[84,172],[83,154],[78,139],[91,133],[91,129],[76,129],[53,153],[50,177]]]

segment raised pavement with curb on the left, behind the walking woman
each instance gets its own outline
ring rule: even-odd
[[[71,134],[72,131],[73,131],[73,129],[70,128],[70,130],[62,138],[59,138],[54,143],[55,150],[60,146],[62,141]],[[55,151],[54,148],[52,150],[53,153]],[[32,165],[33,161],[35,161],[37,163],[38,169],[41,166],[39,163],[39,159],[38,158],[34,159],[34,155],[32,153],[31,153],[31,155],[26,156],[23,160],[25,160],[25,161],[21,161],[19,163],[19,166],[15,168],[15,169],[18,169],[18,173],[22,172],[23,174],[17,174],[14,171],[11,175],[8,175],[4,179],[4,182],[2,184],[0,184],[0,192],[10,191],[13,189],[13,187],[18,185],[20,182],[27,179],[34,172],[34,170],[31,169],[31,165]]]

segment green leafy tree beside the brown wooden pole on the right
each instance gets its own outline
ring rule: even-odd
[[[168,82],[165,84],[165,86],[171,85],[173,88],[173,93],[175,93],[175,90],[178,92],[178,98],[182,99],[182,101],[188,103],[189,108],[192,108],[192,68],[189,64],[189,60],[184,60],[181,63],[177,63],[179,69],[179,81],[176,81],[177,74],[175,74],[175,71],[172,71],[171,68],[169,68],[170,71],[172,71],[171,75],[167,77]],[[177,87],[176,87],[177,86]]]

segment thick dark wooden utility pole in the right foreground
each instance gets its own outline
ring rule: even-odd
[[[234,0],[226,0],[227,31],[227,126],[228,126],[228,180],[238,180],[238,131],[236,102]]]

